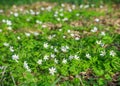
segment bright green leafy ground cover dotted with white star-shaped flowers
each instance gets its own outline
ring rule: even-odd
[[[61,8],[63,11],[60,11]],[[107,86],[120,69],[117,26],[103,24],[102,19],[95,22],[95,18],[106,18],[108,12],[115,12],[111,7],[107,8],[106,12],[104,7],[79,8],[76,5],[69,12],[57,5],[50,11],[33,10],[40,12],[38,15],[32,15],[30,8],[27,8],[28,13],[24,13],[23,9],[23,12],[13,14],[8,12],[11,9],[6,9],[0,14],[0,85]],[[56,11],[57,17],[54,16]],[[61,13],[64,15],[61,16]],[[64,18],[68,20],[63,21]],[[36,23],[36,20],[42,24]],[[75,23],[72,26],[74,21],[82,22],[82,25]],[[95,27],[98,29],[94,30]],[[73,56],[72,59],[70,56]],[[39,60],[42,60],[41,64],[38,64]],[[56,68],[53,74],[50,73],[52,67]],[[119,82],[119,78],[117,80]]]

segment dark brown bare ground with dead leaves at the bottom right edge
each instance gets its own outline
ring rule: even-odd
[[[120,85],[120,83],[119,83],[120,82],[120,72],[117,72],[111,76],[112,76],[112,80],[108,81],[107,86],[119,86]],[[56,86],[60,86],[60,84],[65,81],[73,81],[75,78],[78,78],[80,80],[81,86],[84,86],[82,80],[89,81],[90,79],[92,79],[96,83],[99,78],[105,80],[104,75],[95,76],[95,74],[93,73],[93,70],[88,69],[88,70],[86,70],[86,72],[80,72],[80,74],[78,74],[78,75],[62,76]],[[93,86],[93,85],[94,85],[93,83],[90,84],[90,86]]]

